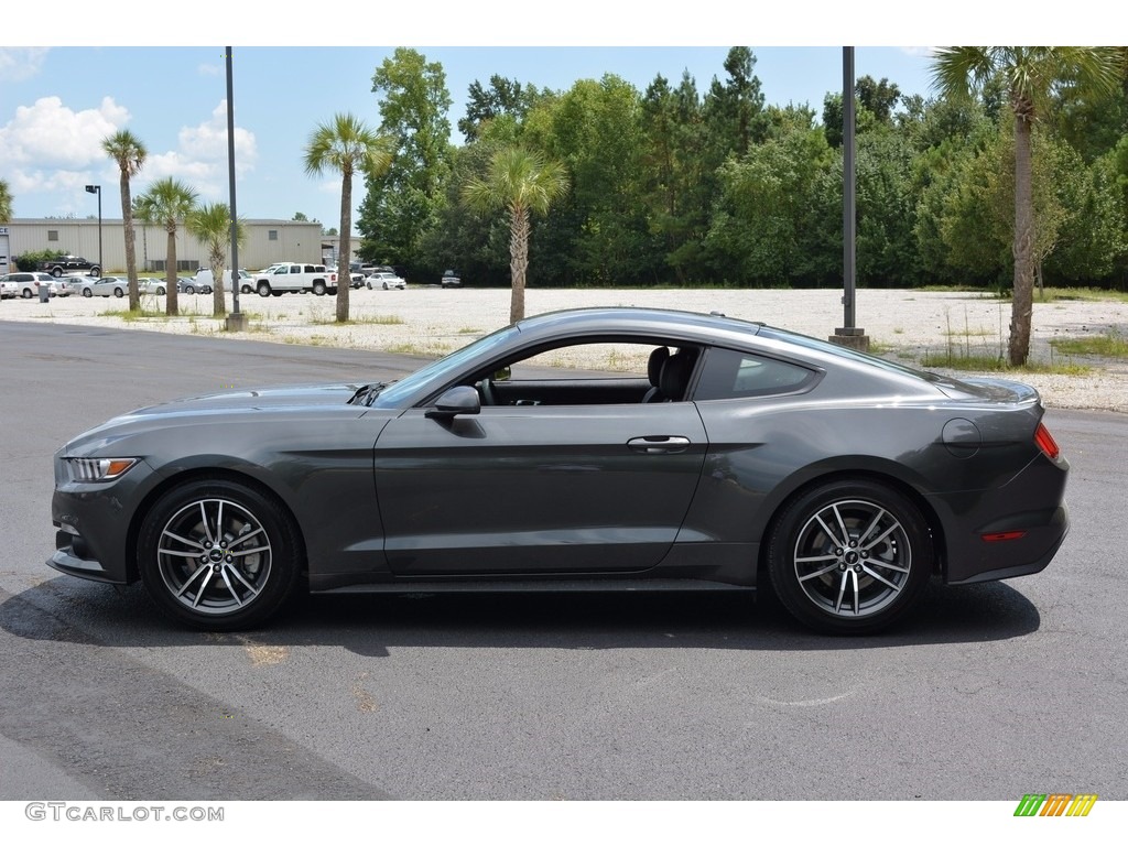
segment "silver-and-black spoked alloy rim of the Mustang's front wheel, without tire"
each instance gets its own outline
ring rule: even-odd
[[[272,559],[259,519],[226,499],[184,505],[157,543],[157,566],[169,596],[199,614],[231,614],[254,602],[270,581]]]

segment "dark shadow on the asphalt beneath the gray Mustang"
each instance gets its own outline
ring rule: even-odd
[[[0,591],[0,628],[20,637],[108,646],[336,645],[367,656],[396,647],[871,650],[981,643],[1038,631],[1041,617],[1003,582],[929,585],[904,623],[864,637],[814,634],[770,592],[404,593],[303,598],[264,629],[194,632],[162,617],[140,585],[60,576]]]

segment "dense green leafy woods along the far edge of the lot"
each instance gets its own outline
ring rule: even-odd
[[[456,144],[441,64],[399,49],[372,77],[391,158],[365,177],[361,255],[422,282],[453,267],[470,284],[511,284],[512,219],[483,214],[465,188],[519,149],[559,165],[567,184],[532,218],[529,284],[839,285],[841,95],[821,112],[768,105],[755,64],[751,50],[731,49],[704,90],[688,73],[658,74],[645,91],[614,74],[564,91],[493,76],[469,87]],[[1117,68],[1095,97],[1069,79],[1047,87],[1038,132],[1017,139],[1032,148],[1039,281],[1128,284],[1128,88]],[[1023,123],[1005,68],[968,85],[970,96],[941,85],[926,99],[856,81],[861,285],[1013,284]]]

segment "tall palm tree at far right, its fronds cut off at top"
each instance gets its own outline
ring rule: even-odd
[[[1014,114],[1014,299],[1008,358],[1013,367],[1030,355],[1033,312],[1034,202],[1031,133],[1055,94],[1077,97],[1114,94],[1121,78],[1117,47],[944,47],[933,64],[933,85],[945,96],[967,97],[998,80]]]

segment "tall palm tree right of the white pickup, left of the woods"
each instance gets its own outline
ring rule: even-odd
[[[349,319],[349,262],[352,257],[352,177],[358,170],[378,175],[391,165],[390,144],[351,114],[320,123],[306,144],[306,173],[341,174],[341,250],[337,258],[337,321]]]

